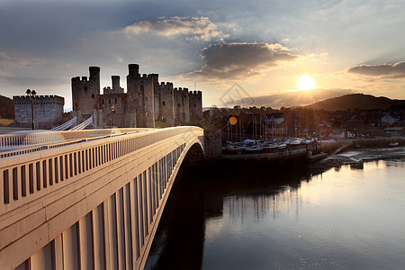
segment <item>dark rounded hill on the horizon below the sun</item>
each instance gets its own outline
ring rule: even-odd
[[[346,94],[304,107],[324,109],[325,111],[347,111],[349,109],[387,110],[391,106],[405,106],[405,100],[390,99],[383,96],[375,97],[371,94]]]

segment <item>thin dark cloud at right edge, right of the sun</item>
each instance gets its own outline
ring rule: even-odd
[[[350,67],[348,73],[354,73],[362,76],[383,76],[389,78],[405,77],[405,61],[396,64],[380,65],[358,65]]]

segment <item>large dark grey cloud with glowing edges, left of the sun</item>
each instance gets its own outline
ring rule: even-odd
[[[265,42],[220,42],[202,50],[205,66],[184,77],[201,79],[246,79],[299,58],[288,48]]]

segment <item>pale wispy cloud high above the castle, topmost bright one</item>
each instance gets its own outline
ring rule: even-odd
[[[161,21],[144,21],[125,27],[128,35],[151,33],[163,37],[186,36],[187,40],[209,41],[227,37],[208,17],[172,17]]]

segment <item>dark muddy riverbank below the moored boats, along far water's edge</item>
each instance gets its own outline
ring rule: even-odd
[[[341,141],[322,141],[317,148],[313,147],[311,162],[306,154],[306,149],[286,150],[267,154],[229,155],[217,158],[209,158],[195,162],[193,165],[184,164],[182,168],[190,169],[198,174],[233,175],[244,168],[255,168],[257,174],[285,173],[292,170],[310,170],[321,173],[331,167],[351,165],[354,168],[361,167],[364,162],[384,158],[394,160],[405,159],[405,139],[396,138],[399,147],[390,148],[390,139],[365,139],[361,148],[355,148],[357,141],[347,139]],[[368,147],[369,146],[369,147]],[[324,153],[324,154],[321,154]],[[320,158],[318,158],[320,157]],[[196,170],[196,171],[195,171]],[[264,173],[266,171],[266,173]]]

